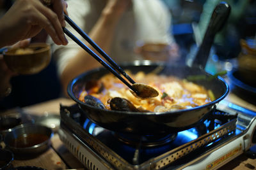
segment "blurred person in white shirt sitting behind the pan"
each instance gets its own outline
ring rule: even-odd
[[[141,60],[134,48],[144,43],[170,45],[170,58],[177,57],[171,34],[172,16],[159,0],[70,0],[68,15],[117,63]],[[83,41],[70,25],[67,29]],[[71,39],[67,46],[53,45],[63,92],[78,74],[101,66]]]

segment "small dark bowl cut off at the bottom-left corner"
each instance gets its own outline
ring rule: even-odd
[[[13,161],[13,153],[10,150],[0,149],[0,169],[9,169]]]

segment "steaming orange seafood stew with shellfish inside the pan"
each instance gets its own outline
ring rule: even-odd
[[[99,80],[86,82],[84,90],[79,94],[79,100],[108,110],[135,112],[183,110],[202,106],[214,100],[211,90],[207,90],[202,85],[192,81],[180,80],[175,76],[145,74],[142,71],[136,74],[129,73],[129,75],[134,81],[156,89],[159,96],[148,99],[138,98],[122,81],[109,73]],[[88,99],[93,100],[88,101]]]

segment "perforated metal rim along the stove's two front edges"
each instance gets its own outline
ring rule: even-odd
[[[70,118],[71,113],[70,110],[68,110],[68,107],[63,108],[63,111],[61,111],[61,129],[66,129],[67,132],[70,133],[71,138],[76,138],[76,140],[64,138],[62,134],[60,135],[61,141],[65,143],[70,152],[76,155],[77,159],[79,159],[84,166],[88,167],[89,169],[96,170],[102,169],[95,166],[99,166],[100,163],[102,166],[108,167],[107,169],[111,169],[111,167],[114,169],[162,169],[164,167],[168,167],[170,164],[173,164],[173,162],[184,158],[186,155],[189,155],[189,153],[198,150],[198,148],[211,145],[211,143],[214,143],[214,141],[225,138],[225,136],[230,136],[236,131],[236,119],[234,119],[207,134],[204,134],[157,157],[153,157],[142,164],[130,164],[125,159],[120,157],[120,155],[111,150],[108,146],[104,145],[104,143],[102,143],[99,139],[95,138],[95,136],[92,136],[92,134],[90,134],[88,131],[85,131],[83,126],[77,124],[75,120]],[[75,113],[77,115],[77,112]],[[79,143],[77,143],[77,141],[79,141]],[[77,143],[77,145],[74,146],[74,143]],[[81,150],[85,150],[85,153],[81,152]],[[84,156],[85,154],[88,155],[86,150],[90,150],[93,158],[89,159],[88,157]],[[138,152],[140,152],[140,150]],[[134,153],[134,155],[136,154]],[[138,153],[137,155],[140,154]],[[92,159],[95,158],[97,158],[97,160],[92,161]]]

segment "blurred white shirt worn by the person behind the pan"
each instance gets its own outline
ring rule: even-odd
[[[67,3],[69,17],[88,34],[100,17],[104,1],[70,0]],[[134,53],[134,47],[139,41],[172,43],[171,20],[170,12],[160,0],[133,1],[132,8],[124,13],[116,27],[108,55],[117,63],[140,60],[141,57]],[[67,24],[66,28],[83,41],[83,38],[70,25]],[[67,66],[68,60],[72,59],[79,49],[81,47],[69,38],[67,46],[52,45],[59,75]]]

